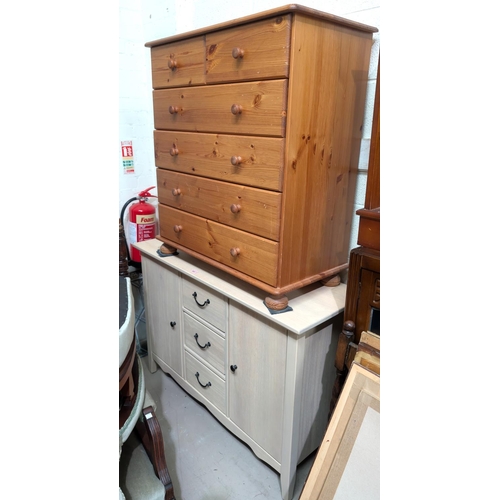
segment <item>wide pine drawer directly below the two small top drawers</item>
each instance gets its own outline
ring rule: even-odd
[[[288,80],[153,90],[156,129],[285,136]]]

